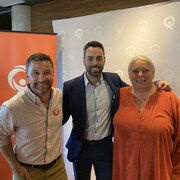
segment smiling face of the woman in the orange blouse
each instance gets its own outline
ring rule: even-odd
[[[154,73],[153,64],[145,59],[136,59],[129,65],[129,79],[134,89],[150,89],[152,87]]]

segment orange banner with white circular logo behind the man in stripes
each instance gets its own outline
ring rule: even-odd
[[[0,106],[23,90],[27,84],[26,59],[42,52],[54,63],[54,84],[56,86],[56,34],[35,34],[24,32],[0,32]],[[12,172],[0,154],[0,180],[12,179]]]

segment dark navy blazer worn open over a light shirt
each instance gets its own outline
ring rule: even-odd
[[[116,73],[103,72],[103,78],[112,90],[112,118],[119,106],[119,88],[127,86]],[[79,155],[83,145],[85,121],[86,121],[86,93],[84,74],[63,85],[63,124],[72,116],[73,127],[66,144],[68,148],[67,158],[74,161]]]

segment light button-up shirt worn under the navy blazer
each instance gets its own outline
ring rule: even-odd
[[[112,91],[101,76],[100,81],[91,85],[84,74],[86,88],[87,119],[84,138],[100,140],[111,133]]]

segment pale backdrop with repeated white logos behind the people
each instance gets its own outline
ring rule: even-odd
[[[130,83],[130,59],[138,54],[149,56],[156,67],[155,80],[170,81],[180,97],[179,17],[180,2],[172,2],[53,21],[54,32],[61,39],[63,81],[84,72],[83,47],[97,40],[106,51],[104,71],[118,72]],[[71,122],[64,128],[65,142],[70,127]],[[71,180],[72,167],[66,163]]]

